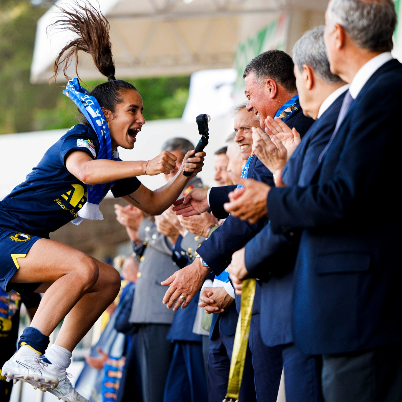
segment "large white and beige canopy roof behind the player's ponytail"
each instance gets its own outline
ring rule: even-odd
[[[116,76],[123,78],[235,67],[239,43],[282,12],[289,21],[280,41],[288,48],[305,29],[322,23],[327,4],[326,0],[78,0],[85,1],[99,4],[110,23]],[[74,1],[56,3],[73,7]],[[55,57],[72,39],[66,31],[46,31],[58,16],[59,10],[51,7],[37,23],[33,83],[49,79]],[[73,66],[70,76],[74,75]],[[100,78],[87,55],[80,55],[79,72],[83,79]]]

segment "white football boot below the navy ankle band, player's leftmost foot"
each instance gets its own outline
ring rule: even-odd
[[[18,380],[21,380],[33,385],[35,389],[39,388],[41,391],[52,390],[59,384],[59,379],[47,372],[44,369],[46,366],[47,364],[36,356],[16,357],[14,355],[4,363],[2,375],[6,377],[7,382],[13,380],[15,384]]]

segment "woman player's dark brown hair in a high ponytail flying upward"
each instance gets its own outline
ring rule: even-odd
[[[77,71],[78,50],[83,50],[92,56],[98,71],[108,77],[108,80],[96,86],[90,95],[96,98],[101,107],[114,113],[116,105],[123,101],[121,91],[137,90],[137,88],[127,81],[116,80],[115,78],[115,63],[113,62],[109,39],[109,22],[100,11],[90,4],[84,6],[76,1],[73,11],[68,11],[56,4],[53,5],[62,11],[65,18],[57,20],[52,25],[60,26],[59,29],[68,29],[77,34],[78,38],[67,43],[56,57],[53,76],[49,82],[53,78],[56,80],[60,68],[63,68],[64,77],[70,78],[67,75],[67,69],[73,57],[76,59],[75,71],[79,78]]]

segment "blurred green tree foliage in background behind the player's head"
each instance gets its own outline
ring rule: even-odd
[[[78,121],[74,103],[55,84],[31,84],[37,19],[48,6],[0,0],[0,134],[66,128]],[[118,76],[117,78],[123,78]],[[123,78],[124,79],[124,78]],[[126,78],[144,100],[147,120],[181,117],[189,77]],[[59,82],[62,83],[61,77]],[[103,81],[86,82],[90,89]]]

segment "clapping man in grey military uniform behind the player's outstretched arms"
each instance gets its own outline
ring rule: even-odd
[[[177,157],[176,166],[180,167],[185,154],[194,149],[185,138],[173,138],[163,146]],[[175,173],[166,175],[169,181]],[[197,177],[189,181],[185,193],[201,183]],[[202,184],[201,184],[202,186]],[[161,302],[165,289],[160,284],[178,269],[172,260],[172,246],[178,231],[163,217],[163,224],[170,225],[170,236],[160,234],[151,218],[144,217],[139,209],[127,205],[115,205],[117,220],[125,226],[133,247],[137,246],[139,272],[133,308],[129,321],[138,327],[137,359],[141,371],[144,402],[162,402],[166,376],[172,359],[173,344],[166,339],[174,311]],[[142,247],[142,251],[138,249]]]

